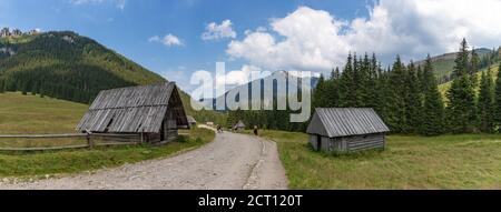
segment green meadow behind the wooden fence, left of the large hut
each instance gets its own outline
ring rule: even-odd
[[[75,133],[89,107],[19,92],[0,93],[0,134]],[[2,148],[82,144],[82,139],[0,139]]]

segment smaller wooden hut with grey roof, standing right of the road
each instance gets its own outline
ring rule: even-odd
[[[373,109],[316,109],[307,129],[317,151],[354,152],[384,149],[390,129]]]

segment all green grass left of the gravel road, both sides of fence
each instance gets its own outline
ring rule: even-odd
[[[68,101],[0,93],[0,134],[72,133],[88,105]],[[214,132],[194,129],[189,137],[180,138],[163,147],[117,147],[94,150],[0,152],[0,176],[33,176],[58,173],[76,173],[112,168],[125,163],[164,158],[200,147],[214,140]],[[0,147],[47,147],[76,144],[85,141],[59,140],[6,140]]]

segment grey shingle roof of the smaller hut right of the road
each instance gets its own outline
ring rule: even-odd
[[[316,109],[307,133],[328,138],[389,132],[390,129],[373,109],[322,108]]]

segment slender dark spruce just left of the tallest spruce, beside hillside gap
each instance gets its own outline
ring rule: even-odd
[[[426,57],[422,78],[423,111],[420,133],[424,135],[439,135],[443,133],[444,105],[439,91],[430,54]]]

